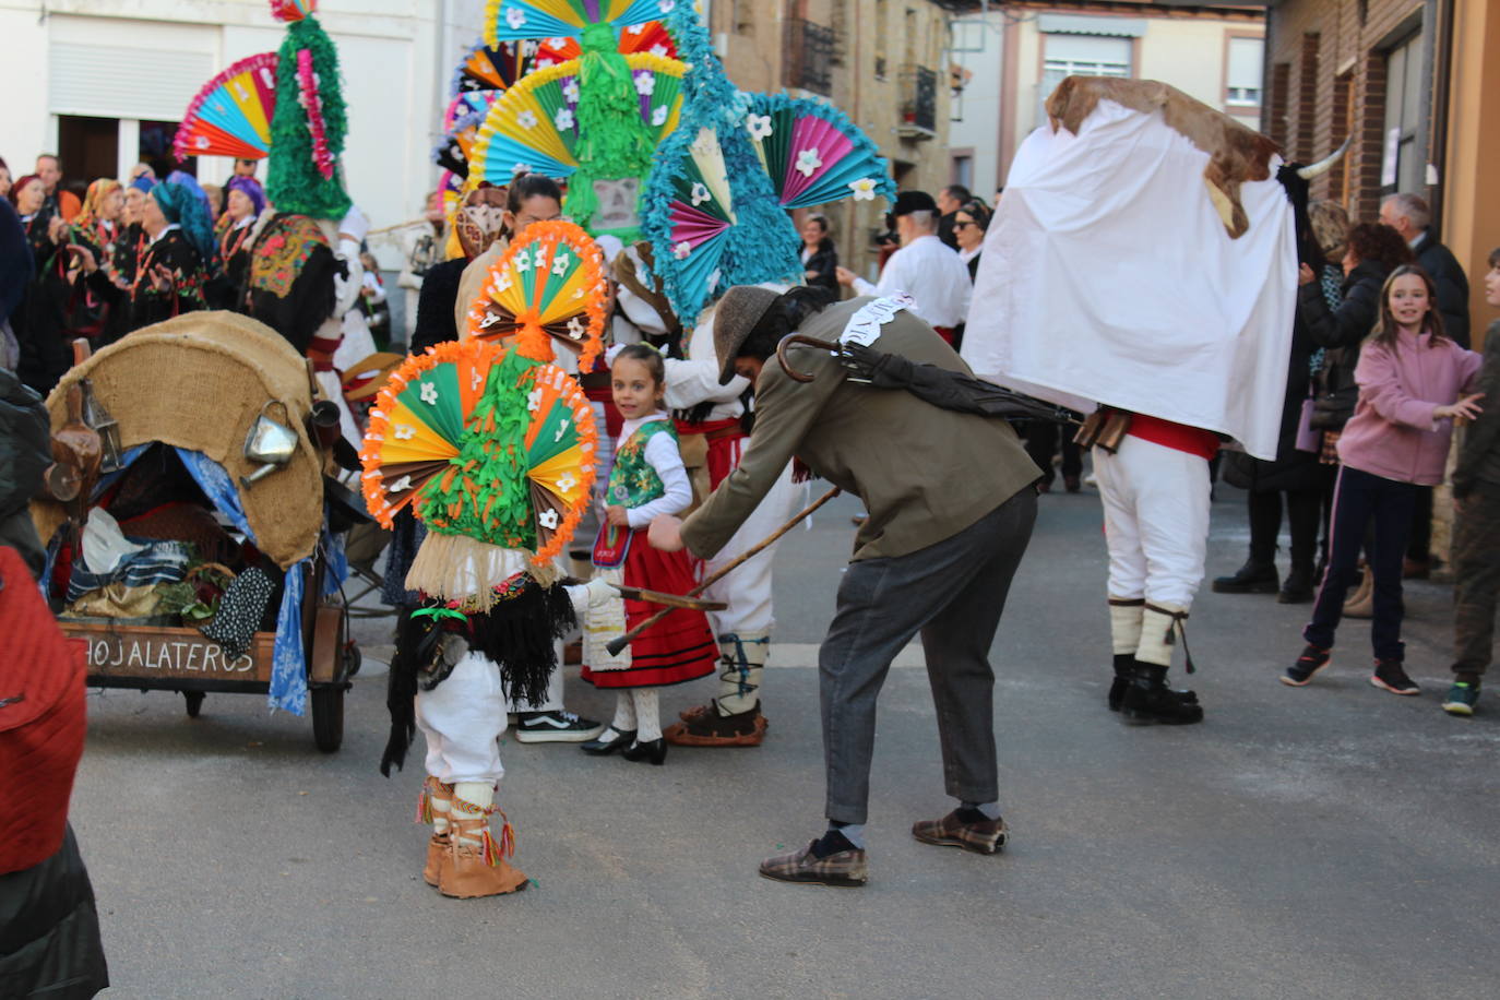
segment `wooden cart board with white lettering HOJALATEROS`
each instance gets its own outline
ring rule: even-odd
[[[249,652],[231,658],[196,628],[150,628],[58,622],[69,639],[88,649],[88,673],[128,678],[194,678],[200,681],[268,681],[272,636],[256,633]]]

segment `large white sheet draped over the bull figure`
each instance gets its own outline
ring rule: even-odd
[[[1232,238],[1204,181],[1209,156],[1162,111],[1110,99],[1077,135],[1060,123],[1032,132],[980,256],[969,367],[1082,412],[1150,414],[1274,459],[1298,285],[1292,205],[1270,156],[1266,180],[1240,184],[1250,226]]]

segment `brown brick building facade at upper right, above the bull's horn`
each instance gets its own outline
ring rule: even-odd
[[[1346,169],[1314,181],[1312,195],[1342,202],[1356,220],[1380,210],[1384,51],[1422,7],[1422,0],[1286,0],[1272,13],[1266,133],[1288,159],[1310,162],[1353,132]]]

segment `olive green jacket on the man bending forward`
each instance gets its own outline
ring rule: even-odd
[[[807,319],[800,333],[837,340],[860,297]],[[933,328],[910,312],[880,327],[879,351],[969,373]],[[904,390],[846,381],[838,358],[796,345],[788,351],[812,382],[790,379],[768,358],[754,387],[754,433],[735,469],[682,523],[693,555],[714,556],[750,516],[795,454],[816,475],[864,501],[870,519],[855,535],[855,561],[903,556],[950,538],[1041,478],[1004,420],[957,414]]]

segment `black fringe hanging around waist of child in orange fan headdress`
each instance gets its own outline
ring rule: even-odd
[[[428,607],[438,606],[429,601]],[[396,655],[386,687],[390,736],[381,754],[380,772],[400,771],[417,735],[417,690],[438,687],[446,675],[428,673],[438,640],[452,619],[412,618],[402,609],[396,619]],[[470,648],[500,664],[500,676],[513,702],[540,702],[558,669],[554,642],[578,628],[573,601],[562,585],[530,582],[519,594],[494,604],[488,613],[468,616]]]

